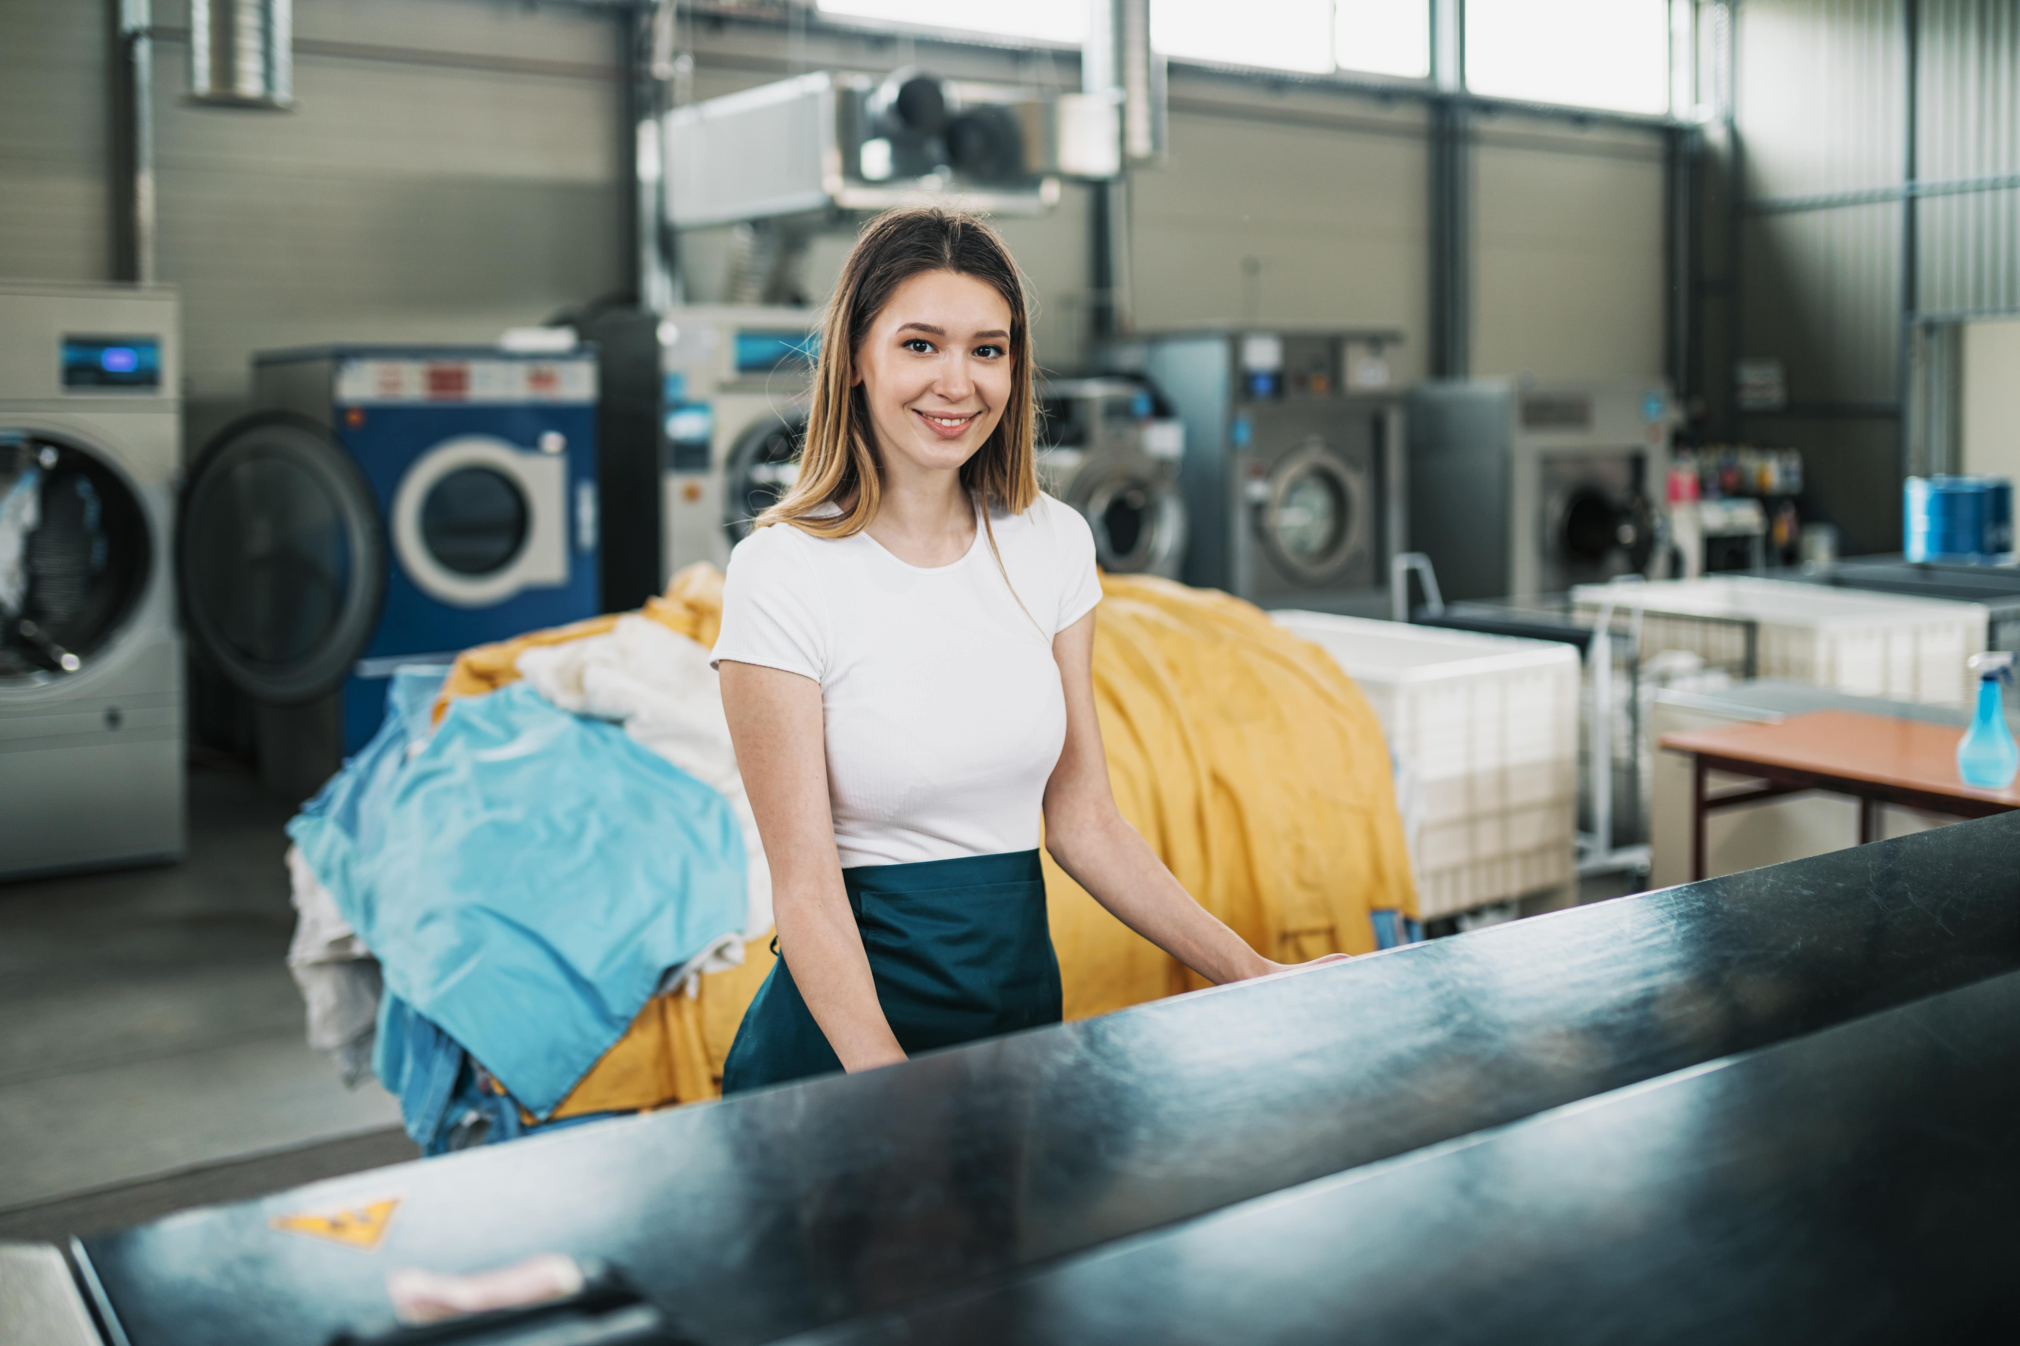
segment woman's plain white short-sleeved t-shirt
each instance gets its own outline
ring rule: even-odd
[[[1040,494],[1022,515],[990,513],[998,569],[976,523],[974,547],[931,569],[869,533],[822,539],[786,523],[729,557],[711,658],[820,682],[844,870],[1038,846],[1067,743],[1052,638],[1101,601],[1095,537]]]

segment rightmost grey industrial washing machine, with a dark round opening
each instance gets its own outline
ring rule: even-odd
[[[1675,402],[1660,379],[1410,389],[1410,539],[1446,597],[1535,597],[1660,555]]]

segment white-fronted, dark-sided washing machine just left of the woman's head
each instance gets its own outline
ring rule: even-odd
[[[727,565],[792,484],[820,315],[612,309],[576,329],[602,353],[604,607],[620,611],[695,561]]]

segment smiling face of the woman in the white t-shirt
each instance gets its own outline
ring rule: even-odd
[[[992,285],[951,270],[899,285],[856,349],[885,470],[960,470],[996,432],[1012,373],[1010,305]]]

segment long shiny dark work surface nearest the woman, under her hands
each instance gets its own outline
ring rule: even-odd
[[[319,1344],[386,1326],[392,1267],[535,1251],[612,1263],[701,1342],[768,1342],[2010,973],[2016,852],[2020,815],[1959,823],[85,1255],[133,1346]],[[390,1199],[376,1251],[269,1227]]]

